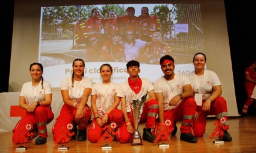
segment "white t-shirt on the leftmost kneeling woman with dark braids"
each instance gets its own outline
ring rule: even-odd
[[[41,81],[37,86],[32,86],[32,81],[24,83],[21,88],[20,96],[24,96],[26,103],[29,105],[34,101],[44,101],[46,94],[52,94],[52,87],[47,81],[43,81],[43,89]]]

